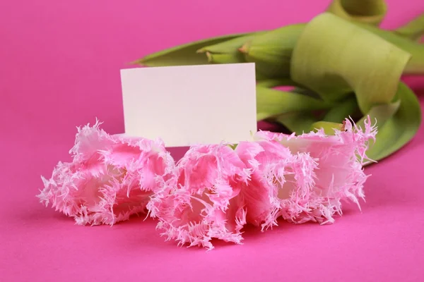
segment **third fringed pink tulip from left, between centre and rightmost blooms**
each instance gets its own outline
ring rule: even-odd
[[[251,178],[240,192],[248,223],[264,229],[277,225],[280,216],[288,218],[305,212],[314,185],[316,160],[307,153],[292,154],[272,140],[241,142],[236,152],[252,169]]]

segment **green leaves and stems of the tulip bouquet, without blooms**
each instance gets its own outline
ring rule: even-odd
[[[413,138],[421,122],[416,95],[401,75],[424,74],[424,15],[383,30],[384,0],[334,0],[310,23],[213,37],[150,54],[143,66],[254,62],[257,120],[301,134],[331,133],[351,117],[377,120],[370,159],[383,159]],[[290,86],[281,91],[277,87]]]

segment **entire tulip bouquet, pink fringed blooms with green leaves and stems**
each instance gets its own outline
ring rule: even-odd
[[[146,213],[168,240],[208,250],[213,238],[240,244],[246,224],[265,231],[279,219],[334,222],[341,202],[359,206],[365,197],[363,166],[405,145],[421,121],[418,99],[400,79],[424,73],[424,18],[382,30],[386,8],[382,0],[334,0],[307,24],[206,39],[137,61],[254,62],[257,120],[291,133],[194,145],[176,161],[161,140],[88,124],[78,128],[72,161],[42,178],[40,202],[78,225]]]

